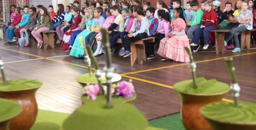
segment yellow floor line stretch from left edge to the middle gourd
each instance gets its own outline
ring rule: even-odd
[[[25,55],[29,55],[29,56],[33,56],[33,57],[38,57],[38,58],[43,58],[43,59],[47,59],[47,60],[51,60],[51,61],[56,61],[56,62],[68,64],[68,65],[74,65],[74,66],[78,66],[78,67],[82,67],[82,68],[88,68],[87,66],[84,66],[84,65],[78,65],[78,64],[74,64],[74,63],[70,63],[70,62],[66,62],[66,61],[55,60],[55,59],[51,59],[51,58],[47,58],[47,57],[41,57],[41,56],[37,56],[37,55],[34,55],[34,54],[21,52],[21,51],[18,51],[18,50],[12,50],[12,49],[3,48],[3,47],[0,47],[0,49],[10,50],[10,51],[18,52],[18,53],[21,53],[21,54],[25,54]],[[95,70],[95,69],[92,68],[92,70]]]

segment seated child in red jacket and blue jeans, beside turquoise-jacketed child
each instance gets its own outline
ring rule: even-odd
[[[9,26],[9,28],[7,28],[6,30],[6,41],[4,42],[4,44],[8,44],[10,42],[11,39],[13,39],[14,37],[14,29],[15,26],[18,25],[21,21],[21,17],[22,15],[20,14],[20,7],[16,7],[16,11],[15,13],[17,14],[16,17],[13,19],[11,25]]]

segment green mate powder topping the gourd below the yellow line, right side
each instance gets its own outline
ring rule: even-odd
[[[203,77],[196,79],[197,88],[194,88],[193,80],[184,80],[173,85],[178,92],[194,93],[194,94],[214,94],[227,92],[229,85],[219,82],[215,79],[206,80]]]

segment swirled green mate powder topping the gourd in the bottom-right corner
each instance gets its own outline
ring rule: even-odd
[[[214,102],[203,106],[200,112],[203,116],[236,123],[256,123],[256,104],[240,101],[240,107],[235,107],[234,103]]]

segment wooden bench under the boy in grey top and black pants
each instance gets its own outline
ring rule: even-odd
[[[134,65],[136,59],[138,60],[139,65],[142,65],[142,60],[146,61],[145,42],[155,42],[155,37],[148,37],[132,42],[131,66]],[[121,38],[117,39],[116,43],[122,43]]]

